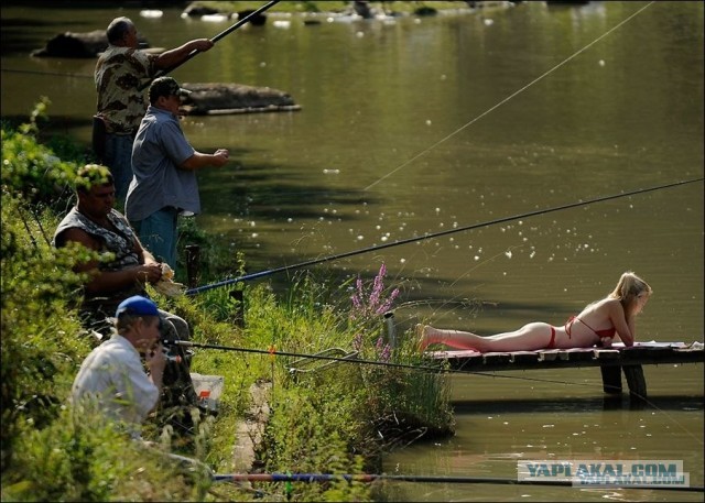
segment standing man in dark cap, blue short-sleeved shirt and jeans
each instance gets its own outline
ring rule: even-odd
[[[132,146],[133,177],[124,215],[142,244],[176,270],[176,223],[180,215],[200,212],[196,170],[223,166],[228,151],[196,151],[178,123],[182,89],[172,77],[160,77],[150,86],[150,106]]]

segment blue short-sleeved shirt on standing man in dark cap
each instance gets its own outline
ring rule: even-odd
[[[132,146],[133,176],[124,203],[126,217],[143,220],[170,206],[199,214],[196,173],[177,167],[195,152],[178,118],[150,106]]]

